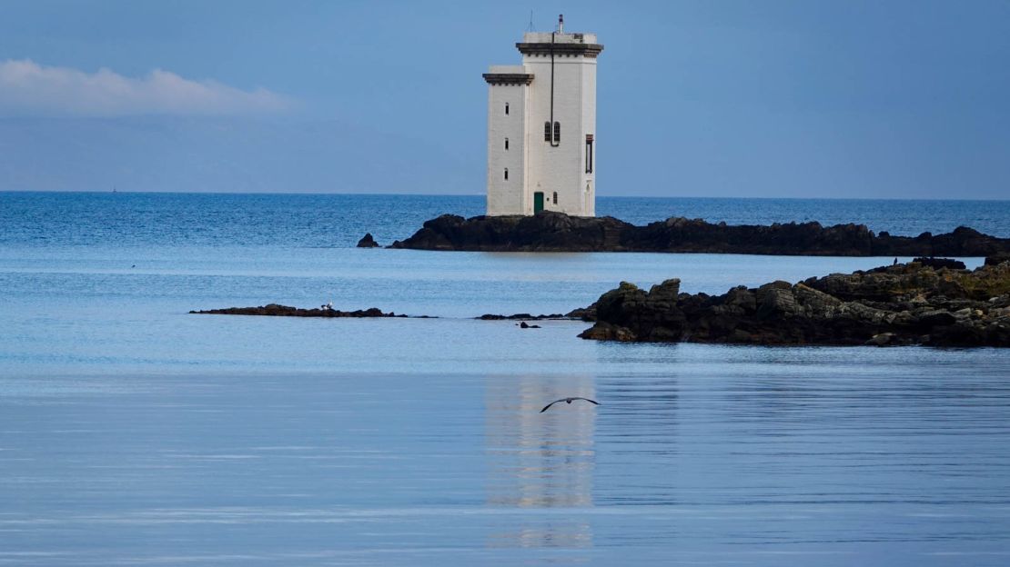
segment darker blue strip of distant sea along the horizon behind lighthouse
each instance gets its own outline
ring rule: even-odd
[[[441,214],[483,215],[483,196],[0,193],[0,243],[382,245]],[[669,217],[728,224],[817,221],[918,235],[970,226],[1010,237],[1010,201],[601,197],[598,216],[642,225]]]

